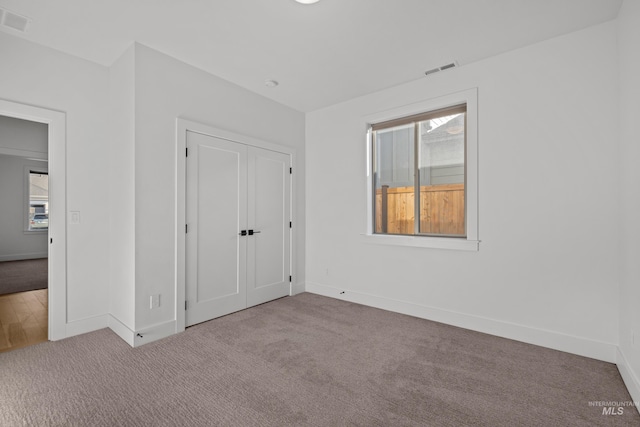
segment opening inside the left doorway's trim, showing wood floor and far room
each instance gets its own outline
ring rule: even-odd
[[[48,338],[48,125],[0,116],[0,352]]]

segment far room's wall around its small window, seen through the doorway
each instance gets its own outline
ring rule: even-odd
[[[43,165],[0,154],[0,261],[47,257],[47,233],[25,232],[25,167]]]

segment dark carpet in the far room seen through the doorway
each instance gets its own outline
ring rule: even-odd
[[[0,262],[0,295],[47,289],[47,258]]]

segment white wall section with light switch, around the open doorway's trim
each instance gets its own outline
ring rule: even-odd
[[[108,310],[108,70],[0,33],[0,98],[57,111],[67,118],[67,325],[75,334],[102,325]]]

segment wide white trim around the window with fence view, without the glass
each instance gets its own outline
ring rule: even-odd
[[[437,236],[407,236],[393,234],[374,233],[374,212],[373,212],[373,168],[372,168],[372,138],[371,125],[408,117],[429,111],[440,110],[453,107],[455,105],[466,104],[467,106],[467,128],[466,128],[466,214],[465,230],[466,237],[437,237]],[[367,228],[363,235],[366,243],[414,246],[434,249],[454,249],[464,251],[477,251],[480,241],[478,240],[478,89],[472,88],[449,95],[440,96],[405,105],[391,110],[381,111],[364,117],[367,129],[366,153],[367,153]]]

